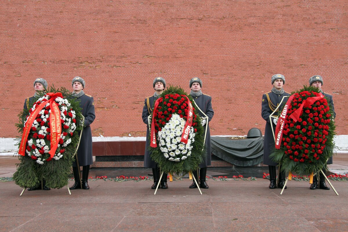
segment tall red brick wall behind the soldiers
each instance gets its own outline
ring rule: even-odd
[[[71,89],[79,75],[94,96],[93,135],[144,136],[152,80],[189,91],[203,80],[215,111],[212,135],[264,130],[261,95],[273,74],[286,91],[324,78],[348,134],[348,4],[341,1],[3,1],[0,6],[0,137],[35,78]]]

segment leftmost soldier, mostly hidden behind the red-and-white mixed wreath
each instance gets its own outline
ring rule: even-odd
[[[28,97],[25,99],[24,106],[23,106],[25,112],[27,110],[29,110],[29,107],[31,104],[33,104],[34,99],[40,98],[39,92],[45,91],[45,89],[47,89],[47,81],[45,79],[42,79],[42,78],[37,78],[34,81],[34,90],[35,90],[34,96],[31,96],[31,97]],[[25,121],[25,117],[23,117],[23,122],[24,121]],[[37,185],[38,185],[37,187],[28,188],[28,191],[41,189],[41,183],[38,183]],[[50,188],[46,186],[45,179],[42,179],[42,185],[43,185],[42,186],[43,190],[50,190]]]

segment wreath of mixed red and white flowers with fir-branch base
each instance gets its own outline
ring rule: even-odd
[[[22,139],[18,151],[21,163],[13,176],[16,184],[34,187],[42,178],[52,188],[68,184],[72,155],[82,129],[76,98],[64,88],[51,88],[19,116],[23,123],[17,124]]]

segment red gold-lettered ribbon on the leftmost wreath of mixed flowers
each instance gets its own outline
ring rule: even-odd
[[[57,97],[63,97],[62,93],[47,93],[46,95],[50,96],[45,102],[41,102],[33,112],[29,115],[27,119],[22,135],[21,145],[19,146],[18,154],[25,155],[26,141],[29,136],[29,132],[31,130],[31,126],[33,125],[36,116],[39,112],[45,107],[47,103],[50,104],[50,129],[51,129],[51,149],[49,151],[50,157],[52,158],[57,150],[59,139],[61,138],[62,133],[62,123],[61,123],[61,111],[57,103],[54,101]]]

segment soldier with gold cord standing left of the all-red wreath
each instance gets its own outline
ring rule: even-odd
[[[269,116],[272,112],[274,112],[282,101],[284,96],[290,96],[289,93],[285,92],[283,86],[285,84],[285,77],[282,74],[276,74],[272,76],[271,83],[273,88],[266,94],[262,95],[262,109],[261,116],[266,121],[266,127],[264,129],[264,141],[263,141],[263,164],[268,165],[269,169],[269,179],[270,189],[275,189],[276,186],[276,166],[278,163],[273,162],[273,160],[269,157],[272,150],[275,149],[275,142],[272,133],[272,128],[275,131],[278,118],[270,121]],[[286,101],[285,101],[286,102]],[[283,102],[284,103],[284,102]],[[281,110],[281,109],[278,109]],[[280,168],[280,167],[279,167]],[[285,172],[280,171],[278,176],[279,182],[278,187],[283,188],[285,184]],[[285,186],[286,189],[286,186]]]

